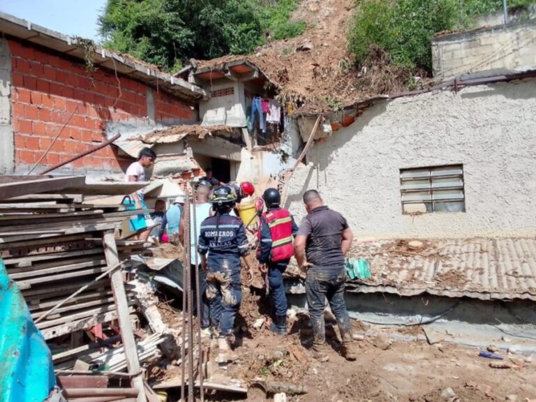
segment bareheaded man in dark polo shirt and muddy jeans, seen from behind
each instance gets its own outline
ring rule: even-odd
[[[319,359],[327,359],[324,322],[327,298],[341,332],[341,355],[355,360],[357,353],[352,348],[352,328],[344,301],[344,255],[354,235],[346,219],[324,205],[318,191],[306,191],[304,203],[308,215],[301,222],[295,239],[295,256],[300,269],[307,273],[305,292],[313,324],[313,352]]]

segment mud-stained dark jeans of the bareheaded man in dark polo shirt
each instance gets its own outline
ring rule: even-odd
[[[343,343],[352,341],[350,318],[344,301],[346,272],[344,267],[317,267],[308,269],[305,294],[313,325],[313,343],[325,343],[324,309],[327,299],[337,320]]]

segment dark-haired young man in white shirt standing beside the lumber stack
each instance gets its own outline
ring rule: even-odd
[[[128,166],[125,173],[125,181],[145,181],[145,170],[151,168],[155,160],[156,154],[152,149],[142,149],[137,161]],[[132,201],[127,204],[133,205],[135,209],[147,209],[147,205],[143,199],[143,189],[132,193],[131,199]],[[147,240],[151,232],[149,225],[147,225],[145,215],[149,214],[139,214],[136,218],[131,219],[131,230],[137,232],[137,239],[139,240]]]

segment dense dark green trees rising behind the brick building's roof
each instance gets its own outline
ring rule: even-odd
[[[99,19],[105,46],[179,70],[190,59],[247,54],[273,38],[297,36],[298,0],[108,0]]]

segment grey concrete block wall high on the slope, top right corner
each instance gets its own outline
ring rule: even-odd
[[[432,64],[440,80],[491,69],[535,69],[536,20],[433,38]]]

